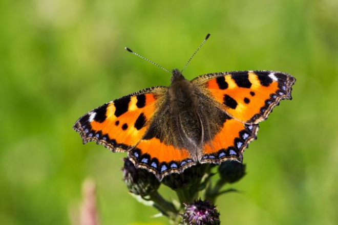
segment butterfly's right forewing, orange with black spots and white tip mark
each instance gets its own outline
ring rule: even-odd
[[[230,116],[257,124],[282,99],[291,99],[295,79],[281,72],[242,71],[206,74],[193,82],[204,87]]]

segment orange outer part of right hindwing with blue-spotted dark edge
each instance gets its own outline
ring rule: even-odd
[[[205,143],[201,163],[242,162],[242,154],[250,141],[256,139],[258,125],[247,125],[229,118],[215,138]]]

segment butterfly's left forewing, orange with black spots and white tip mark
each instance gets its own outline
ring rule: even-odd
[[[143,137],[167,87],[151,87],[105,103],[74,125],[83,143],[95,141],[112,151],[128,151]]]

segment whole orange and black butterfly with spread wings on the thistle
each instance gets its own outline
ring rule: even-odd
[[[291,99],[294,82],[276,71],[220,72],[188,81],[176,69],[169,87],[105,103],[82,116],[74,129],[83,143],[128,152],[136,167],[161,180],[199,163],[242,162],[258,123],[282,99]]]

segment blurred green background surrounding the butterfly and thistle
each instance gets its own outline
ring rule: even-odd
[[[123,153],[82,145],[74,122],[139,89],[198,75],[277,70],[293,100],[261,123],[241,193],[217,201],[222,224],[338,223],[336,0],[0,2],[0,223],[72,224],[81,184],[97,184],[101,224],[166,224],[122,182]],[[175,195],[162,190],[167,197]],[[74,216],[74,215],[73,215]]]

